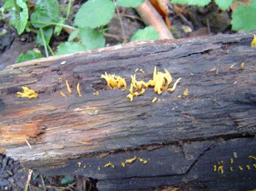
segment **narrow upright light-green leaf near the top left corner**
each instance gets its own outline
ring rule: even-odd
[[[22,10],[16,23],[16,29],[18,31],[18,34],[21,34],[25,30],[27,25],[28,8],[27,4],[23,2],[23,0],[17,0],[17,6],[19,6]]]

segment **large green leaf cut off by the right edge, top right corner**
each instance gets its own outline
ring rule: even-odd
[[[249,6],[239,6],[232,14],[232,30],[244,29],[245,32],[256,30],[256,0]]]

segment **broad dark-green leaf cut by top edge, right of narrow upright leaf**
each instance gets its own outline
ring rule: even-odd
[[[36,0],[35,11],[31,14],[32,22],[61,22],[62,16],[57,0]],[[45,27],[45,24],[32,24],[36,28]],[[48,24],[51,25],[51,24]]]

